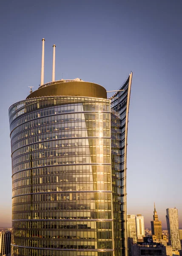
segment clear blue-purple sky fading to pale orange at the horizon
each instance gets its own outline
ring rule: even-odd
[[[11,226],[8,108],[40,84],[81,78],[117,90],[134,72],[128,128],[128,214],[150,227],[154,202],[162,227],[176,207],[182,227],[182,1],[0,1],[0,227]]]

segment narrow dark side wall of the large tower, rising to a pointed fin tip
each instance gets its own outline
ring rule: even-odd
[[[131,73],[111,96],[111,169],[114,218],[114,256],[128,255],[126,212],[126,153]]]

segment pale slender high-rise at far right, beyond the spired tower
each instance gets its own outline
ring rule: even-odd
[[[169,242],[173,249],[180,250],[178,210],[175,208],[166,209],[166,221],[168,227]]]

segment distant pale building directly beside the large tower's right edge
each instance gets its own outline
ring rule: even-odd
[[[128,224],[128,253],[131,255],[131,244],[137,244],[136,216],[127,215]]]

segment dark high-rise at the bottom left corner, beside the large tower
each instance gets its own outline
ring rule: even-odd
[[[0,256],[11,253],[11,231],[3,231],[0,234]]]

